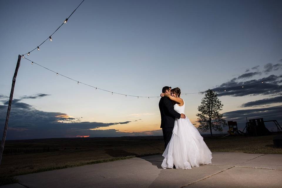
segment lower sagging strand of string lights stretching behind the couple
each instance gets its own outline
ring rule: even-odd
[[[24,59],[30,61],[30,62],[31,62],[31,65],[33,65],[33,63],[35,63],[35,62],[29,60],[28,58],[24,58]],[[46,67],[44,67],[44,66],[42,66],[42,65],[40,65],[40,64],[38,64],[38,63],[35,63],[35,64],[38,65],[38,66],[41,66],[41,67],[43,67],[43,68],[45,68],[45,69],[47,69],[47,70],[50,70],[50,69],[48,69],[48,68],[46,68]],[[52,71],[53,73],[56,73],[56,74],[58,75],[57,72],[55,72],[55,71],[53,71],[53,70],[50,70],[50,71]],[[74,79],[69,78],[69,77],[67,77],[67,76],[65,76],[65,75],[62,75],[62,74],[60,74],[60,75],[63,76],[63,77],[66,77],[66,78],[68,78],[68,79],[70,79],[70,80],[76,81],[77,84],[81,83],[81,84],[90,86],[90,87],[92,87],[92,88],[95,88],[95,90],[99,89],[99,90],[103,90],[103,91],[110,92],[110,93],[112,93],[112,94],[115,93],[115,92],[112,92],[112,91],[104,90],[104,89],[101,89],[101,88],[94,87],[94,86],[92,86],[92,85],[88,85],[88,84],[79,82],[78,80],[74,80]],[[281,76],[274,77],[274,78],[270,78],[270,79],[267,79],[267,80],[273,80],[273,79],[277,79],[277,78],[281,78],[281,77],[282,77],[282,75],[281,75]],[[263,80],[263,81],[267,81],[267,80]],[[245,84],[245,86],[246,86],[246,85],[251,85],[251,84],[256,84],[256,83],[263,83],[263,81],[258,81],[258,82],[253,82],[253,83]],[[234,88],[239,88],[239,87],[244,88],[244,85],[242,85],[242,86],[240,86],[240,85],[239,85],[239,86],[234,86],[234,87],[225,88],[225,89],[220,89],[220,90],[226,91],[226,90],[230,90],[230,89],[234,89]],[[207,91],[208,91],[208,90],[206,90],[205,92],[207,92]],[[214,90],[213,90],[213,91],[214,91]],[[197,92],[197,93],[200,94],[200,93],[205,93],[205,92]],[[116,94],[118,94],[118,95],[125,95],[125,94],[122,94],[122,93],[116,93]],[[187,94],[196,94],[196,93],[184,93],[184,94],[187,95]],[[139,96],[136,96],[136,95],[128,95],[128,96],[137,97],[137,98],[139,99]],[[127,95],[125,95],[125,97],[127,97]],[[143,97],[143,98],[144,98],[145,96],[140,96],[140,97]],[[150,97],[148,97],[148,96],[147,96],[147,98],[150,99]],[[159,96],[152,97],[152,98],[159,98]]]

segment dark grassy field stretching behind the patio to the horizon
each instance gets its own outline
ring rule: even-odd
[[[260,137],[204,137],[212,152],[282,154],[273,147],[275,135]],[[49,152],[46,148],[49,148]],[[0,185],[16,182],[16,175],[122,160],[134,156],[162,154],[162,136],[52,138],[8,140],[5,149],[25,149],[34,153],[4,154],[0,168]],[[41,152],[36,152],[41,151]]]

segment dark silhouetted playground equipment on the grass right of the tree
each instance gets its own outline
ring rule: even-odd
[[[227,131],[229,134],[226,136],[232,135],[244,135],[244,136],[263,136],[270,135],[271,132],[266,128],[265,122],[274,122],[277,127],[277,132],[282,132],[282,127],[276,120],[267,120],[264,121],[263,118],[251,119],[249,122],[246,122],[246,132],[238,130],[236,121],[228,121],[229,130]]]

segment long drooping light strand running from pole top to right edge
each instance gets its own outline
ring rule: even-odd
[[[156,97],[155,97],[155,96],[154,96],[154,97],[148,97],[148,96],[127,95],[127,94],[123,94],[123,93],[116,93],[116,92],[113,92],[113,91],[101,89],[101,88],[95,87],[95,86],[93,86],[93,85],[88,85],[88,84],[86,84],[86,83],[82,83],[82,82],[80,82],[80,81],[78,81],[78,80],[75,80],[75,79],[73,79],[73,78],[70,78],[70,77],[67,77],[67,76],[65,76],[65,75],[59,74],[58,72],[53,71],[53,70],[51,70],[51,69],[48,69],[48,68],[46,68],[46,67],[44,67],[44,66],[42,66],[42,65],[40,65],[40,64],[38,64],[38,63],[35,63],[34,61],[29,60],[28,58],[24,58],[24,59],[30,61],[31,64],[34,63],[34,64],[36,64],[36,65],[38,65],[38,66],[41,66],[42,68],[45,68],[45,69],[47,69],[47,70],[50,70],[50,71],[52,71],[53,73],[56,73],[56,75],[61,75],[61,76],[65,77],[65,78],[68,78],[68,79],[70,79],[70,80],[73,80],[73,81],[75,81],[75,82],[77,82],[77,83],[90,86],[90,87],[92,87],[92,88],[95,88],[95,90],[99,89],[99,90],[102,90],[102,91],[110,92],[110,93],[112,93],[112,94],[115,93],[115,94],[118,94],[118,95],[124,95],[125,97],[127,97],[127,96],[130,96],[130,97],[137,97],[137,98],[142,97],[142,98],[148,98],[148,99],[150,99],[150,98],[159,98],[159,96],[156,96]],[[249,83],[249,84],[244,84],[244,86],[246,86],[246,85],[251,85],[251,84],[256,84],[256,83],[263,83],[264,81],[273,80],[273,79],[277,79],[277,78],[281,78],[281,77],[282,77],[282,75],[281,75],[281,76],[274,77],[274,78],[266,79],[266,80],[261,80],[261,81],[258,81],[258,82],[253,82],[253,83]],[[222,88],[222,89],[219,89],[219,90],[216,90],[216,91],[226,91],[226,90],[230,90],[230,89],[234,89],[234,88],[240,88],[240,87],[242,88],[242,85],[235,86],[235,87],[230,87],[230,88]],[[215,91],[215,90],[213,90],[213,91]],[[197,94],[200,94],[200,93],[206,93],[206,92],[207,92],[207,91],[194,92],[194,93],[183,93],[183,94],[185,94],[185,95],[187,95],[187,94],[196,94],[196,93],[197,93]],[[183,94],[182,94],[182,95],[183,95]]]

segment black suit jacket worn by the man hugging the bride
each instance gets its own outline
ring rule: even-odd
[[[162,97],[159,102],[161,113],[161,128],[174,127],[174,120],[180,118],[180,114],[173,108],[172,101],[167,97]]]

